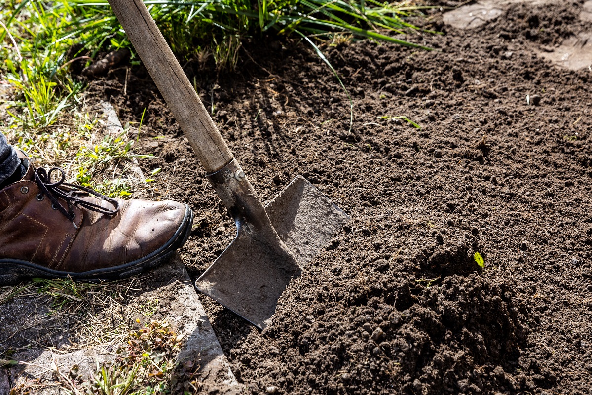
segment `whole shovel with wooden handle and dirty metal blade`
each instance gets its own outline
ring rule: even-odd
[[[195,282],[259,329],[290,280],[349,217],[303,176],[263,207],[141,0],[108,0],[236,223],[236,238]]]

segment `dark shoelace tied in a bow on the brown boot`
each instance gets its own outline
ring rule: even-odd
[[[59,181],[52,182],[52,173],[54,171],[60,172]],[[117,200],[107,197],[103,194],[99,194],[99,192],[93,191],[89,188],[82,187],[81,185],[69,184],[68,182],[64,182],[65,180],[66,172],[60,168],[52,168],[49,171],[46,171],[44,168],[35,169],[35,182],[38,185],[41,194],[46,195],[47,198],[49,198],[49,200],[52,202],[52,208],[59,210],[60,213],[64,214],[67,219],[72,221],[76,229],[78,229],[78,226],[76,226],[76,223],[74,222],[76,214],[72,210],[73,204],[85,207],[88,210],[95,211],[96,213],[106,214],[108,216],[113,216],[119,212],[119,203],[117,203]],[[71,189],[70,191],[66,191],[64,187],[69,187]],[[113,205],[113,207],[115,207],[114,210],[101,207],[99,204],[82,200],[78,197],[78,195],[83,193],[94,195],[101,200],[108,201]],[[58,197],[66,201],[67,210],[62,206],[62,204],[59,203],[59,201],[57,201]]]

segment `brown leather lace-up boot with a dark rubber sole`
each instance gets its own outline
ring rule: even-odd
[[[186,204],[120,200],[35,169],[0,190],[0,285],[27,278],[117,280],[152,268],[185,244]],[[60,181],[52,182],[52,173]]]

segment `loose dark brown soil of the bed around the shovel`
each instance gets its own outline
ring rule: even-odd
[[[590,394],[592,72],[536,52],[592,26],[583,1],[557,3],[508,2],[465,31],[435,14],[445,34],[413,37],[433,52],[323,47],[351,130],[296,40],[245,44],[236,72],[185,65],[262,200],[301,174],[352,217],[263,332],[201,297],[252,393]],[[146,108],[157,158],[141,166],[197,213],[181,250],[196,278],[235,230],[178,124],[141,67],[91,92],[124,123]]]

